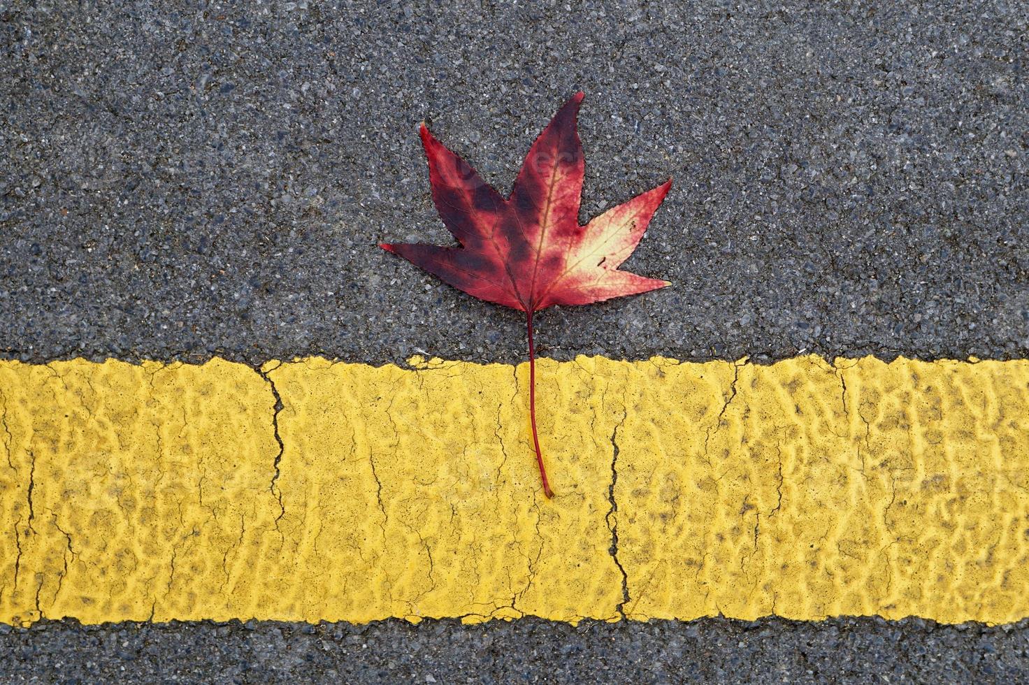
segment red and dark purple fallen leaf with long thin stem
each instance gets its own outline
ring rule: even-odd
[[[575,116],[582,93],[562,106],[532,144],[509,197],[500,196],[422,124],[432,200],[460,247],[382,244],[469,295],[526,313],[529,414],[543,492],[553,497],[536,434],[532,315],[553,304],[590,304],[671,285],[618,271],[672,186],[669,179],[578,223],[584,161]]]

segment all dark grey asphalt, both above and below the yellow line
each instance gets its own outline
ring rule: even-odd
[[[449,238],[422,119],[506,191],[579,88],[582,218],[674,177],[627,267],[675,287],[542,354],[1029,356],[1025,2],[36,4],[0,6],[4,357],[521,360],[375,244]],[[1026,627],[44,623],[0,680],[1009,682]]]

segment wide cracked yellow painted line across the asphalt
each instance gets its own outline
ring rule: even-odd
[[[0,621],[1029,616],[1029,361],[414,363],[0,362]]]

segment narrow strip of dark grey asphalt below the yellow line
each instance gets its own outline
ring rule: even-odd
[[[0,633],[2,633],[0,628]],[[872,618],[822,623],[582,623],[461,626],[239,622],[0,635],[4,682],[209,683],[1017,683],[1026,625],[944,626]]]

